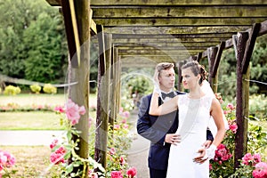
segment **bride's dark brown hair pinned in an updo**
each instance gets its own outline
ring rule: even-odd
[[[195,76],[198,76],[198,74],[200,74],[199,85],[202,84],[203,80],[206,80],[208,73],[206,72],[205,67],[200,65],[198,61],[190,61],[182,65],[182,69],[187,68],[190,68]]]

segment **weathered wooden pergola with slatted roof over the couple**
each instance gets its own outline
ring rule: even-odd
[[[209,82],[215,93],[217,69],[223,50],[234,47],[237,57],[236,117],[239,126],[235,167],[239,166],[238,159],[247,149],[245,118],[248,117],[249,61],[256,37],[267,33],[267,1],[46,1],[60,6],[65,20],[69,54],[75,68],[73,77],[79,81],[79,85],[72,88],[70,97],[78,104],[88,106],[90,44],[99,50],[97,124],[103,131],[107,131],[108,124],[112,125],[117,116],[122,67],[155,67],[158,62],[170,61],[179,68],[185,60],[201,63],[201,59],[207,58]],[[77,125],[84,133],[83,138],[86,138],[87,131],[85,117]],[[80,142],[82,149],[78,152],[84,158],[88,153],[86,146],[86,139]],[[100,160],[104,167],[106,146],[107,132],[98,131],[95,159]]]

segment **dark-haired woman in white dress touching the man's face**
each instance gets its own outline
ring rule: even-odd
[[[157,80],[157,75],[155,80]],[[208,178],[209,159],[214,158],[217,146],[223,141],[225,126],[223,111],[214,94],[201,89],[206,81],[206,71],[198,61],[190,61],[182,66],[182,84],[190,93],[177,95],[172,100],[158,106],[157,89],[152,94],[150,115],[159,116],[179,109],[179,127],[177,134],[182,140],[172,145],[168,160],[167,178]],[[214,119],[217,127],[214,142],[205,149],[201,145],[206,141],[206,127]],[[206,152],[206,158],[199,160],[200,153]],[[200,162],[200,163],[199,163]]]

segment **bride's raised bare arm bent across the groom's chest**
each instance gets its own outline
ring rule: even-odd
[[[158,106],[158,96],[157,92],[153,92],[152,98],[150,101],[150,115],[160,116],[167,113],[171,113],[174,110],[178,109],[178,95],[173,99],[164,102],[162,105]]]

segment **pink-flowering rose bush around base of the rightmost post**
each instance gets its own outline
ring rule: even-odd
[[[218,146],[214,159],[210,161],[210,177],[264,178],[266,163],[263,162],[264,160],[262,160],[261,154],[266,150],[266,133],[263,132],[262,126],[249,123],[247,131],[247,154],[239,160],[240,166],[235,170],[233,155],[235,150],[235,134],[238,129],[235,107],[229,103],[223,109],[230,129],[226,131],[222,144]],[[255,167],[257,164],[259,165]]]

